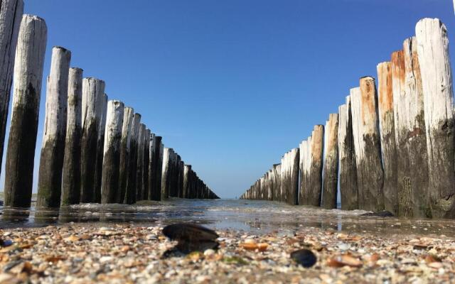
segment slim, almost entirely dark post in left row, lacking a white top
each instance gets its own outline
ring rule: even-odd
[[[153,155],[149,169],[149,199],[161,200],[161,170],[163,167],[163,144],[161,136],[154,136]]]

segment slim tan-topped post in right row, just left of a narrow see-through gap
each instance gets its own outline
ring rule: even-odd
[[[338,193],[338,114],[330,114],[324,136],[322,207],[336,209]]]

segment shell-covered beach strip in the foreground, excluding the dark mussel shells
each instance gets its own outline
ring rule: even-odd
[[[0,283],[447,283],[455,278],[455,242],[444,235],[377,236],[311,227],[254,235],[228,229],[217,230],[218,251],[161,258],[176,244],[161,229],[134,224],[2,229],[1,238],[13,244],[0,249]],[[249,251],[245,243],[267,248]],[[303,268],[289,257],[299,249],[316,254],[315,266]],[[336,267],[345,257],[350,265]]]

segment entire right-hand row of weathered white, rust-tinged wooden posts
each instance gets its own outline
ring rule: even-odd
[[[333,209],[387,210],[402,217],[455,217],[454,104],[449,40],[437,18],[375,78],[360,78],[338,114],[314,126],[242,199]]]

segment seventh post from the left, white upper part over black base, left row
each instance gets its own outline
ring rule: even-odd
[[[120,146],[122,144],[124,104],[107,102],[105,148],[102,165],[101,203],[115,203],[119,192]]]

